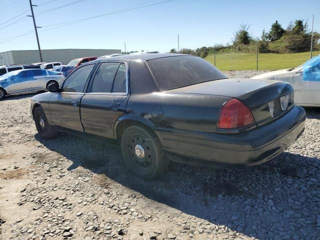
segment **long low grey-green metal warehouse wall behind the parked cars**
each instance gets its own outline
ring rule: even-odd
[[[41,50],[44,62],[60,61],[62,64],[70,60],[85,56],[102,56],[112,53],[121,53],[120,49],[44,49]],[[3,57],[2,57],[3,55]],[[39,62],[38,50],[13,50],[0,53],[0,63],[4,64],[28,64]]]

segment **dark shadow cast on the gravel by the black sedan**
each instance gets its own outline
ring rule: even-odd
[[[38,134],[35,138],[48,149],[70,159],[72,164],[68,170],[82,166],[104,174],[155,202],[260,239],[273,238],[269,232],[279,227],[284,232],[294,233],[284,217],[285,212],[302,212],[292,209],[287,203],[291,194],[287,184],[296,184],[297,195],[318,187],[311,185],[305,188],[307,173],[303,170],[317,168],[318,158],[290,152],[283,152],[265,164],[245,170],[172,162],[163,175],[146,181],[127,172],[117,146],[68,134],[51,140],[43,140]],[[259,233],[254,231],[257,225],[262,226]]]

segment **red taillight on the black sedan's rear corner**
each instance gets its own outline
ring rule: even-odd
[[[238,99],[232,98],[222,106],[217,121],[218,128],[237,128],[254,123],[250,109]]]

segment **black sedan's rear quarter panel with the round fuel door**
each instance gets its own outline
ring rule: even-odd
[[[215,132],[225,96],[153,92],[130,95],[126,112],[150,122],[151,127]]]

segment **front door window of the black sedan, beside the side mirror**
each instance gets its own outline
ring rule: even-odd
[[[85,65],[74,70],[64,81],[62,91],[83,92],[84,85],[88,79],[94,64]]]

